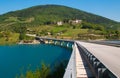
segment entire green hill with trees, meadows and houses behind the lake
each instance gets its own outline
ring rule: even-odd
[[[120,39],[120,23],[60,5],[40,5],[0,15],[0,44],[34,39],[27,33],[62,39]]]

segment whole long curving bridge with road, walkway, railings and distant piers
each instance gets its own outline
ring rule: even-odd
[[[120,48],[88,42],[40,38],[40,42],[72,48],[63,78],[120,78]]]

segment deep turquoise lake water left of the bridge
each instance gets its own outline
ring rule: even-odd
[[[71,51],[53,45],[0,46],[0,78],[15,78],[17,74],[30,68],[35,69],[41,62],[53,65],[69,59]]]

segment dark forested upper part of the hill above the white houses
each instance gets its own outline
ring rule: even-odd
[[[120,23],[116,21],[61,5],[40,5],[8,12],[0,15],[0,27],[10,28],[18,24],[37,26],[57,21],[68,21],[71,19],[80,19],[88,23],[99,24],[111,29],[120,28]]]

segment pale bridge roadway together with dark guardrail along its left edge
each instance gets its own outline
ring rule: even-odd
[[[120,78],[120,48],[76,41],[97,78]]]

